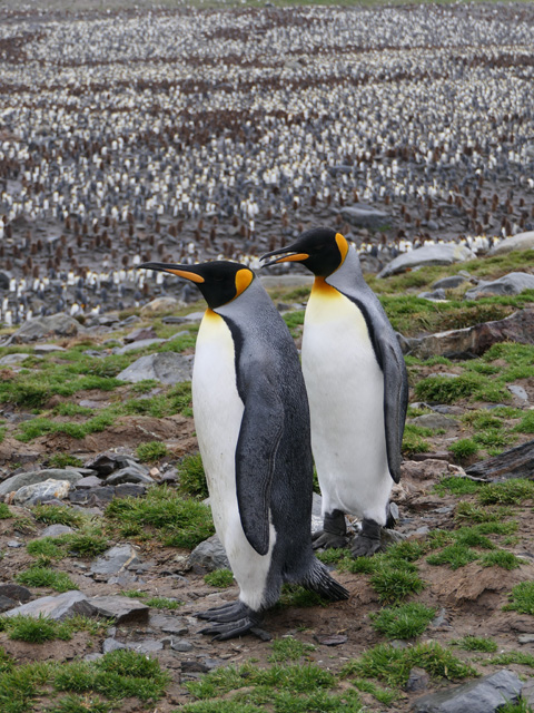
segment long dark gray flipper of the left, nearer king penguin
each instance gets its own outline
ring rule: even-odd
[[[284,407],[268,378],[248,380],[236,448],[237,502],[243,530],[258,555],[269,550],[270,487],[284,432]]]

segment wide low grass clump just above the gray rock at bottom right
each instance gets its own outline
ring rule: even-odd
[[[345,664],[342,675],[376,678],[389,686],[404,686],[414,666],[424,668],[433,678],[455,681],[478,675],[473,666],[434,643],[416,644],[406,648],[378,644],[359,658]]]

